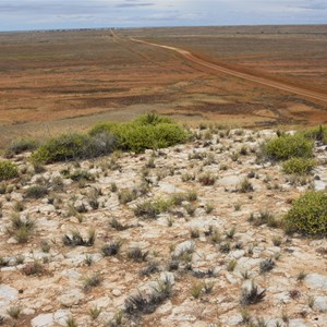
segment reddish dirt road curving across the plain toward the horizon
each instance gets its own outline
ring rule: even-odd
[[[276,82],[276,81],[269,80],[267,77],[258,77],[255,75],[251,75],[249,73],[240,72],[238,70],[228,69],[228,68],[221,66],[219,64],[211,63],[209,61],[199,59],[199,58],[195,57],[192,52],[181,49],[181,48],[165,46],[165,45],[160,45],[160,44],[154,44],[154,43],[149,43],[146,40],[136,39],[136,38],[131,38],[131,40],[135,41],[135,43],[140,43],[140,44],[148,45],[148,46],[154,46],[154,47],[175,51],[175,52],[180,53],[181,56],[183,56],[184,58],[186,58],[187,60],[193,61],[199,65],[206,66],[208,69],[211,69],[213,71],[218,71],[218,72],[221,72],[225,74],[229,74],[231,76],[240,77],[240,78],[243,78],[246,81],[258,83],[258,84],[262,84],[265,86],[270,86],[270,87],[278,88],[278,89],[281,89],[284,92],[296,94],[299,96],[303,96],[305,98],[311,98],[311,99],[319,100],[319,101],[327,104],[327,95],[323,94],[323,93],[313,92],[313,90],[305,89],[302,87],[296,87],[296,86],[288,85],[288,84],[284,84],[281,82]]]

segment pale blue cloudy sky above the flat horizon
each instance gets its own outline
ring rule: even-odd
[[[327,0],[0,0],[0,31],[327,24]]]

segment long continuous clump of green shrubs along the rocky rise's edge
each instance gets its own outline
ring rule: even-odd
[[[184,142],[189,133],[170,119],[155,113],[130,123],[98,123],[88,134],[64,134],[47,141],[31,157],[32,162],[86,159],[108,155],[114,149],[142,153]]]

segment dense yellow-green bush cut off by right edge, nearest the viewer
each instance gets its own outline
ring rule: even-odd
[[[304,235],[327,237],[327,194],[308,191],[293,203],[283,218],[286,231]]]

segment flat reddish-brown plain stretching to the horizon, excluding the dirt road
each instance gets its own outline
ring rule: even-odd
[[[0,34],[0,145],[155,110],[233,126],[327,122],[326,102],[213,71],[169,49],[327,93],[327,27],[180,27]]]

